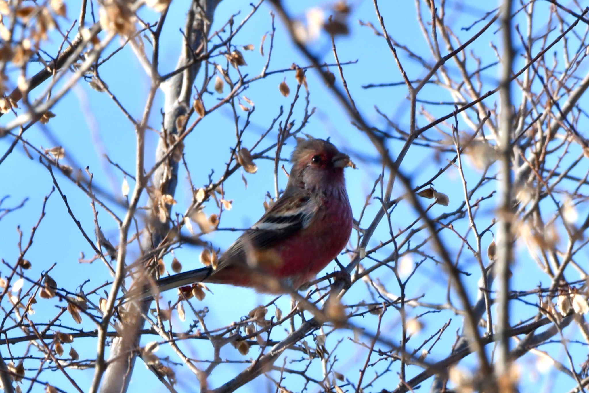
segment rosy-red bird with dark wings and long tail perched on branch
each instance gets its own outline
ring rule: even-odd
[[[315,278],[346,246],[352,208],[343,169],[350,158],[322,139],[300,140],[282,196],[221,255],[203,267],[155,282],[158,290],[196,282],[223,283],[280,293]],[[275,281],[277,280],[277,281]]]

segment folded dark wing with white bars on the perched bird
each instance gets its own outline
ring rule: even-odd
[[[309,226],[317,212],[310,196],[283,196],[221,256],[218,269],[246,263],[248,252],[261,252]]]

